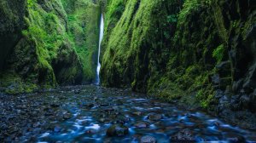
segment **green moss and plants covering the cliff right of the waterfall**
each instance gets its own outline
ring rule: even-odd
[[[229,88],[230,82],[224,80],[234,78],[233,67],[225,67],[218,85],[212,83],[212,75],[221,71],[216,69],[218,64],[230,60],[229,46],[241,52],[237,43],[242,42],[236,42],[241,39],[234,35],[244,36],[244,29],[252,27],[253,20],[233,17],[228,22],[231,17],[223,11],[224,3],[108,1],[102,84],[131,86],[135,91],[170,101],[195,94],[198,106],[213,110],[213,87]],[[236,2],[233,7],[237,11],[230,13],[241,13]]]

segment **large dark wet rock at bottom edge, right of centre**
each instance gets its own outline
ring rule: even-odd
[[[195,136],[190,129],[183,129],[170,138],[173,142],[195,142]]]

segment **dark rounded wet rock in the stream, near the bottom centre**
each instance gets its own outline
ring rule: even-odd
[[[107,130],[108,136],[124,136],[129,133],[129,129],[121,124],[114,124],[110,126]]]

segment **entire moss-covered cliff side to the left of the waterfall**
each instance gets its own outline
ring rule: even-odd
[[[3,0],[0,6],[1,90],[30,92],[94,80],[98,4]]]

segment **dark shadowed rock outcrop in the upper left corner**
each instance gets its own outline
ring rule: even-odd
[[[20,40],[21,30],[26,27],[23,17],[26,15],[26,1],[0,2],[0,69],[12,48]]]

